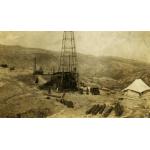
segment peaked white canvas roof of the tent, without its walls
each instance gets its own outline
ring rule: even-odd
[[[138,93],[142,93],[144,91],[150,90],[150,87],[144,83],[141,79],[136,79],[134,82],[132,82],[127,88],[125,88],[123,91],[135,91]]]

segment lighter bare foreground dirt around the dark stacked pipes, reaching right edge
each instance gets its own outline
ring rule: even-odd
[[[119,100],[121,98],[121,100]],[[86,115],[86,111],[89,110],[95,104],[106,104],[107,106],[113,106],[114,103],[119,102],[124,107],[124,112],[120,116],[121,118],[144,118],[149,117],[149,104],[148,100],[143,99],[130,99],[124,97],[120,93],[111,95],[80,95],[78,93],[67,93],[65,99],[71,100],[75,107],[65,108],[56,114],[49,117],[58,118],[103,118],[101,114]],[[108,118],[116,118],[114,110],[110,113]]]

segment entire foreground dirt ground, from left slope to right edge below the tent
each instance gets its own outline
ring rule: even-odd
[[[95,104],[112,106],[120,102],[124,107],[123,118],[149,117],[149,98],[132,99],[121,92],[101,95],[86,95],[68,92],[65,100],[72,101],[74,108],[68,108],[57,101],[56,97],[47,95],[34,83],[31,71],[0,68],[0,117],[48,117],[48,118],[101,118],[101,114],[86,115],[86,111]],[[52,95],[62,96],[63,93],[52,91]],[[114,118],[112,111],[109,118]]]

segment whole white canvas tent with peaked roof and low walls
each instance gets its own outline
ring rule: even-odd
[[[127,88],[123,89],[127,96],[139,97],[143,95],[150,96],[150,87],[141,79],[136,79]]]

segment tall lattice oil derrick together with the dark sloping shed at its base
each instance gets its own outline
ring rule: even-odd
[[[58,71],[52,71],[51,79],[41,88],[48,89],[48,87],[51,87],[58,91],[75,91],[78,89],[78,77],[74,32],[65,31]]]

